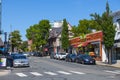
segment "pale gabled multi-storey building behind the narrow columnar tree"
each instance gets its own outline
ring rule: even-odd
[[[62,47],[61,47],[61,32],[62,32],[62,25],[63,21],[55,21],[52,24],[52,28],[50,29],[49,32],[49,51],[58,53],[62,52]],[[71,32],[72,26],[68,23],[68,30],[69,30],[69,38],[73,37],[73,34]]]

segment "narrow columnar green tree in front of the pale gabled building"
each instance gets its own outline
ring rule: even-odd
[[[68,23],[66,19],[63,19],[61,41],[62,41],[62,48],[67,51],[69,47],[69,34],[68,34]]]

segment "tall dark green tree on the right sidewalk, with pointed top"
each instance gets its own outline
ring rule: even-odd
[[[106,3],[106,11],[100,16],[99,14],[92,14],[93,19],[100,25],[103,31],[103,39],[105,48],[108,52],[108,63],[112,63],[111,50],[114,44],[115,27],[113,26],[113,18],[110,16],[110,8],[108,2]]]

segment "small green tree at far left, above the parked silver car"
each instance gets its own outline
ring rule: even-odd
[[[20,49],[20,43],[21,43],[21,35],[20,32],[18,30],[15,30],[13,32],[10,33],[11,38],[11,48],[12,48],[12,52],[14,52],[14,48],[17,48],[17,50]]]

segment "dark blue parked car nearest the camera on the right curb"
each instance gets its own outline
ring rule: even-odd
[[[81,64],[96,64],[95,59],[93,59],[91,56],[87,54],[78,55],[76,58],[76,62]]]

